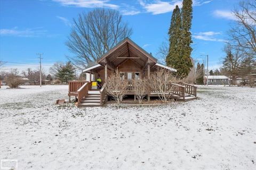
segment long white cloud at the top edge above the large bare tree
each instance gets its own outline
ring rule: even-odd
[[[109,0],[53,0],[59,2],[63,6],[74,6],[74,7],[107,7],[107,8],[119,8],[118,5],[108,3]]]

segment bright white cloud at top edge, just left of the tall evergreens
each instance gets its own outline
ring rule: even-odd
[[[172,12],[176,5],[180,8],[182,6],[182,1],[172,1],[172,2],[164,2],[164,1],[155,1],[154,3],[145,3],[144,1],[139,1],[140,5],[145,8],[145,10],[153,15],[163,14],[167,12]]]

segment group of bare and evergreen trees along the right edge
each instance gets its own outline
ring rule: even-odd
[[[232,82],[240,77],[249,79],[256,73],[256,0],[241,1],[233,10],[234,22],[228,33],[228,41],[223,48],[221,72],[229,76]]]

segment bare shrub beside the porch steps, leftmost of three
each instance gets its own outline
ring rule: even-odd
[[[107,94],[112,96],[119,105],[127,92],[128,81],[122,80],[117,70],[108,77],[106,83]]]

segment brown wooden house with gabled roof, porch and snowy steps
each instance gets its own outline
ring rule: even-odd
[[[77,96],[78,106],[102,105],[107,99],[105,92],[106,78],[115,70],[118,69],[121,73],[121,79],[132,81],[139,77],[150,77],[150,73],[158,68],[164,68],[171,72],[177,71],[169,66],[158,63],[155,57],[147,53],[131,39],[125,38],[96,62],[90,62],[87,65],[83,70],[86,73],[87,81],[69,81],[69,101],[70,96]],[[91,84],[98,78],[102,80],[103,86],[100,90],[93,90]],[[185,101],[187,94],[196,97],[195,86],[190,84],[173,84],[173,86],[177,86],[177,89],[179,89],[173,95],[177,100]],[[135,95],[131,84],[126,95]],[[157,92],[148,92],[148,100],[150,100],[150,96],[157,96]]]

